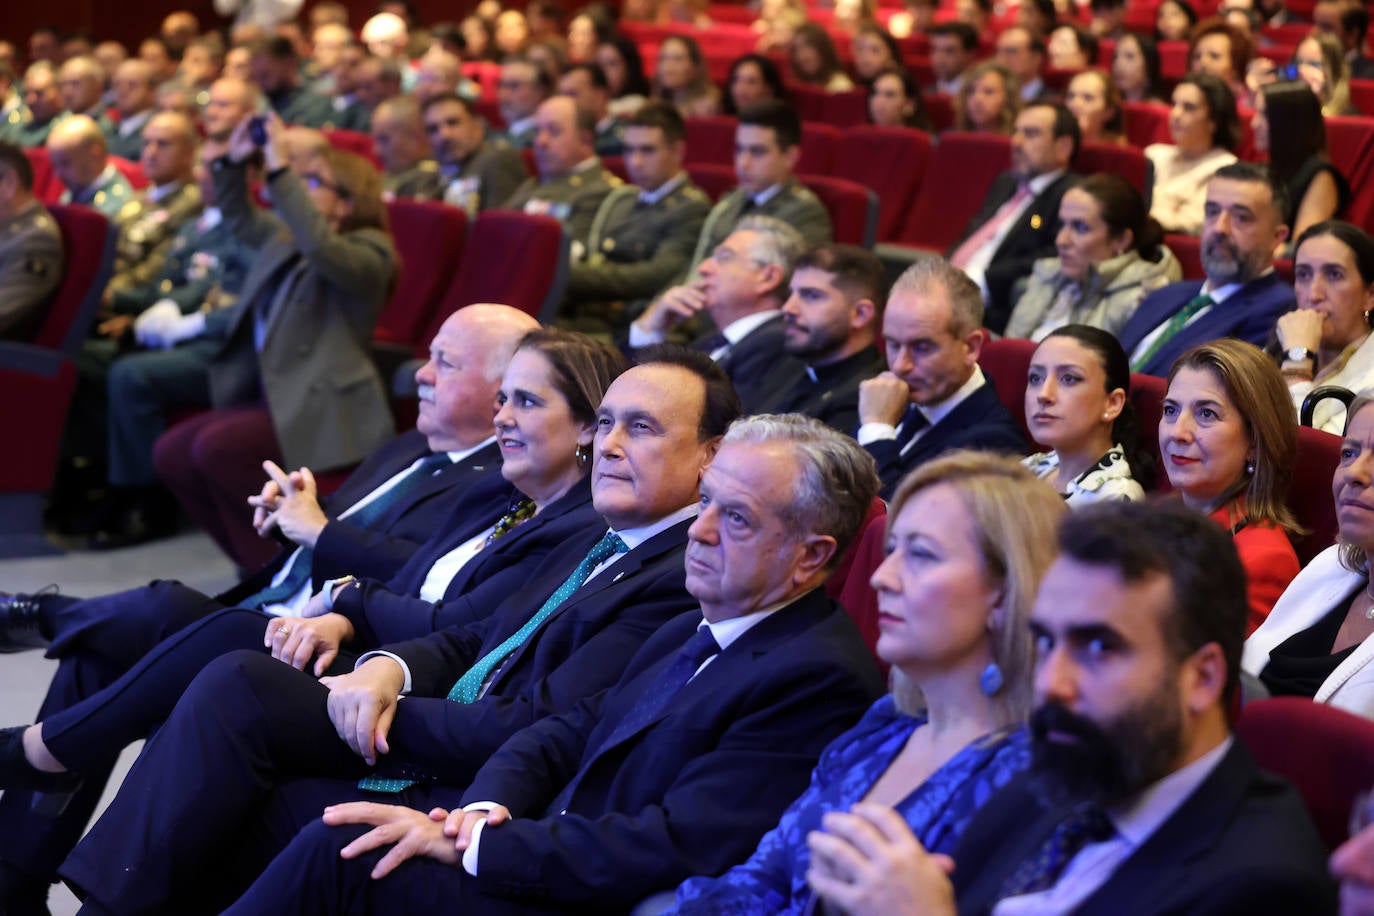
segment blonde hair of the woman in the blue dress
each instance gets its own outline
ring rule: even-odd
[[[1021,461],[988,452],[949,452],[922,464],[897,486],[888,508],[888,531],[907,500],[923,490],[948,485],[959,496],[974,530],[988,582],[1002,589],[1002,614],[992,618],[988,651],[1002,669],[1007,721],[1024,722],[1030,714],[1035,645],[1030,640],[1030,607],[1040,578],[1058,552],[1055,534],[1065,514],[1063,499]],[[892,669],[892,694],[897,707],[914,714],[921,694],[900,670]]]

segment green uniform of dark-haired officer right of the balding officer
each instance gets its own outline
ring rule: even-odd
[[[592,221],[587,255],[569,272],[569,310],[627,302],[633,312],[687,268],[709,210],[710,198],[684,174],[655,194],[632,184],[611,191]]]

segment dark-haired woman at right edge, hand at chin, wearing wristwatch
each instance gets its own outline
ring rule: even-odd
[[[1301,409],[1318,386],[1356,394],[1374,389],[1374,346],[1367,346],[1374,239],[1337,220],[1308,228],[1293,258],[1293,291],[1297,309],[1274,327],[1293,407]],[[1348,416],[1344,404],[1325,398],[1314,408],[1312,426],[1340,435]]]

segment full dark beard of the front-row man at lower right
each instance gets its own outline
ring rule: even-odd
[[[1182,746],[1183,713],[1168,687],[1101,725],[1047,702],[1030,715],[1029,772],[1047,805],[1101,808],[1167,776]]]

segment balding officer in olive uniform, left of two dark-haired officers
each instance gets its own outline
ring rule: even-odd
[[[507,210],[555,217],[567,228],[576,258],[587,249],[602,201],[622,184],[596,158],[595,135],[594,114],[567,96],[547,99],[534,113],[539,177],[528,179],[504,205]]]

